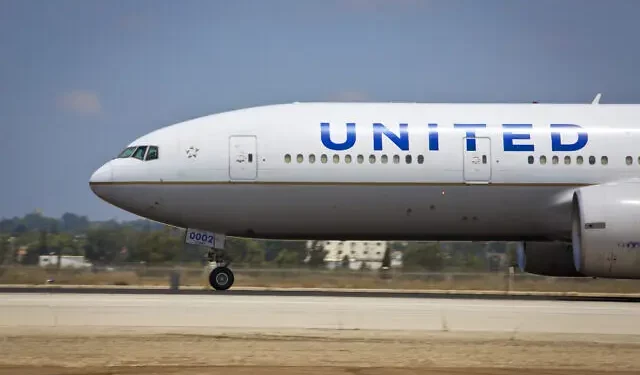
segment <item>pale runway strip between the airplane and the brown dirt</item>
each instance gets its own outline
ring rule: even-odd
[[[329,329],[640,336],[640,304],[413,298],[0,295],[0,327]]]

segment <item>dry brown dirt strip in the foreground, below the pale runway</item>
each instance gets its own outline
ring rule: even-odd
[[[640,338],[0,329],[0,375],[639,374]]]

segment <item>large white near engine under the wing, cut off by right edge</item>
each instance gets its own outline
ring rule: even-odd
[[[640,182],[578,189],[572,221],[576,271],[592,277],[640,278]]]

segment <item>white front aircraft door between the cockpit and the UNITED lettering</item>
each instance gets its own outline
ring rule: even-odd
[[[258,175],[257,143],[253,135],[234,135],[229,138],[229,179],[256,179]]]

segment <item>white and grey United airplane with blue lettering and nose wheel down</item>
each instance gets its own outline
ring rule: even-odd
[[[524,272],[640,278],[640,105],[599,101],[230,110],[135,139],[89,184],[207,245],[216,290],[227,236],[517,241]]]

